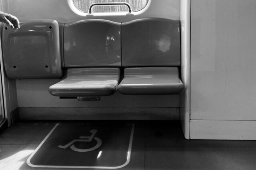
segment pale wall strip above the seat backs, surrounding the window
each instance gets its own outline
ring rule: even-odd
[[[134,15],[118,13],[106,16],[106,13],[96,16],[86,16],[74,7],[72,0],[2,0],[4,12],[9,12],[18,17],[20,21],[28,19],[53,19],[58,22],[68,23],[90,18],[109,19],[116,22],[125,22],[137,18],[160,17],[173,20],[180,18],[180,0],[149,0],[146,8]],[[72,9],[70,8],[72,7]]]

